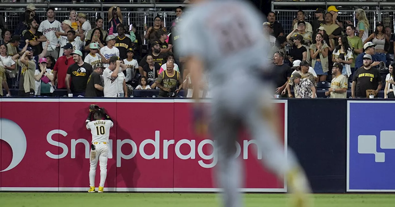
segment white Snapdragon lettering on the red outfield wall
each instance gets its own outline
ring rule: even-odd
[[[52,130],[47,134],[47,142],[51,145],[57,146],[62,148],[62,153],[59,155],[53,154],[50,151],[47,151],[45,154],[52,158],[52,159],[62,159],[66,157],[69,153],[68,146],[64,144],[63,142],[57,142],[52,139],[52,136],[54,134],[60,134],[64,137],[67,136],[67,132],[63,130]],[[60,138],[59,140],[62,140]],[[152,160],[152,159],[169,159],[169,149],[174,147],[175,150],[175,156],[177,156],[179,159],[182,160],[198,160],[198,164],[203,167],[203,168],[213,168],[216,163],[217,163],[217,156],[215,152],[215,142],[213,140],[201,140],[199,143],[196,143],[196,140],[187,140],[187,139],[182,139],[179,140],[178,142],[175,142],[175,140],[163,140],[163,148],[160,147],[160,131],[155,131],[155,138],[154,139],[145,139],[143,140],[139,146],[130,139],[125,139],[125,140],[117,140],[117,147],[116,147],[116,159],[117,159],[117,167],[121,167],[122,165],[122,159],[124,160],[129,160],[134,158],[137,153],[140,154],[141,157],[143,157],[146,160]],[[70,152],[70,157],[71,159],[75,159],[75,146],[78,143],[82,143],[85,145],[85,158],[89,159],[89,152],[90,152],[90,143],[88,140],[80,138],[80,139],[71,139],[70,140],[70,147],[71,147],[71,152]],[[243,159],[248,159],[248,146],[250,144],[256,145],[256,140],[243,140]],[[130,145],[132,147],[132,152],[129,154],[124,154],[122,152],[122,146],[123,145]],[[152,154],[147,154],[145,152],[145,146],[147,145],[153,145],[154,147],[154,152]],[[172,146],[173,145],[173,146]],[[182,145],[188,145],[188,148],[190,149],[189,152],[183,151],[181,153],[180,148]],[[210,153],[205,153],[203,152],[203,147],[205,145],[210,145],[211,148],[214,150],[211,151]],[[111,151],[113,149],[113,141],[110,140],[109,143],[109,159],[113,159],[113,152]],[[241,155],[242,149],[239,143],[236,142],[236,153],[235,157],[239,157]],[[197,154],[196,154],[197,151]],[[81,153],[81,152],[79,152]],[[162,156],[161,156],[162,155]],[[196,158],[196,155],[199,157]],[[257,158],[262,159],[262,153],[260,150],[257,150]]]

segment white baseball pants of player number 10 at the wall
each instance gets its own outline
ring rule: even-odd
[[[89,185],[95,186],[96,166],[99,161],[99,165],[100,165],[100,184],[99,184],[99,186],[104,187],[105,178],[107,177],[107,160],[108,160],[108,144],[109,143],[94,142],[92,144],[95,145],[95,147],[96,147],[96,157],[94,159],[90,159]]]

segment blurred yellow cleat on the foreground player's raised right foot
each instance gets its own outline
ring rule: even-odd
[[[293,207],[312,207],[309,197],[310,188],[305,173],[302,170],[295,169],[287,175],[288,186],[292,192]]]

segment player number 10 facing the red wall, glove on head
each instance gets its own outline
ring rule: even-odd
[[[92,115],[93,121],[91,121]],[[113,125],[113,121],[110,116],[105,113],[104,108],[100,108],[96,104],[90,104],[89,116],[86,121],[87,129],[90,129],[90,133],[92,134],[89,169],[90,189],[88,190],[90,193],[95,192],[95,176],[98,161],[100,161],[100,184],[98,192],[103,192],[105,178],[107,177],[110,129]]]

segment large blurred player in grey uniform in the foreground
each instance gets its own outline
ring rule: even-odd
[[[269,41],[262,34],[263,18],[243,0],[195,0],[181,23],[178,51],[186,60],[194,88],[200,88],[203,69],[212,94],[210,131],[218,150],[217,180],[224,188],[224,206],[240,207],[241,164],[235,159],[241,124],[258,141],[263,164],[288,181],[293,205],[308,206],[310,191],[305,173],[291,150],[285,157],[279,142],[279,122],[271,104]],[[199,93],[193,93],[195,99]],[[194,120],[203,123],[203,107],[194,104]],[[203,123],[204,124],[204,123]],[[197,129],[204,127],[197,127]]]

